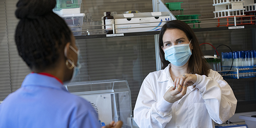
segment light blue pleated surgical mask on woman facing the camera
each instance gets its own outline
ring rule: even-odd
[[[192,55],[189,44],[178,44],[164,49],[165,59],[175,66],[183,66]]]

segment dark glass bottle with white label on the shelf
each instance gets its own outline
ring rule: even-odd
[[[113,29],[113,23],[114,23],[114,17],[111,16],[111,12],[106,12],[106,16],[103,17],[104,20],[104,29],[106,29],[107,34],[113,34],[113,30],[107,30],[107,29]]]

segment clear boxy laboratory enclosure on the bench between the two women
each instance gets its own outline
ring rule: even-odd
[[[107,125],[121,120],[122,128],[132,128],[131,90],[126,80],[74,82],[65,87],[90,102],[100,122]]]

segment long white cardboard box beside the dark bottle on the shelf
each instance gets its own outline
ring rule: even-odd
[[[171,19],[171,12],[144,12],[114,15],[116,33],[160,31]],[[150,27],[152,26],[152,27]],[[140,27],[140,28],[138,28]]]

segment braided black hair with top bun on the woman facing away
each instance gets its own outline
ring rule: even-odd
[[[15,15],[20,19],[15,42],[30,69],[44,70],[59,58],[60,48],[71,41],[65,21],[52,12],[56,0],[19,0]]]

